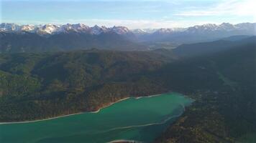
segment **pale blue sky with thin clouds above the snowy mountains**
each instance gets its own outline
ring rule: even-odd
[[[256,22],[255,0],[0,0],[0,23],[129,29]]]

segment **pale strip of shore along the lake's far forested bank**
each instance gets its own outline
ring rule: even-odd
[[[145,96],[145,98],[147,97],[157,97],[157,96],[160,96],[161,94],[154,94],[154,95],[150,95],[150,96]],[[21,122],[0,122],[0,125],[1,124],[22,124],[22,123],[30,123],[30,122],[40,122],[40,121],[46,121],[46,120],[50,120],[50,119],[58,119],[58,118],[61,118],[61,117],[69,117],[69,116],[73,116],[73,115],[76,115],[76,114],[83,114],[83,113],[98,113],[101,111],[101,109],[104,109],[106,107],[109,107],[111,106],[112,104],[115,104],[117,102],[122,102],[123,100],[126,100],[126,99],[130,99],[130,98],[134,98],[134,99],[140,99],[140,98],[144,98],[144,97],[126,97],[124,99],[119,99],[117,100],[116,102],[111,102],[110,104],[104,106],[104,107],[101,107],[99,108],[98,110],[96,111],[93,111],[93,112],[78,112],[78,113],[73,113],[73,114],[66,114],[66,115],[61,115],[61,116],[58,116],[58,117],[50,117],[50,118],[46,118],[46,119],[36,119],[36,120],[33,120],[33,121],[21,121]]]

